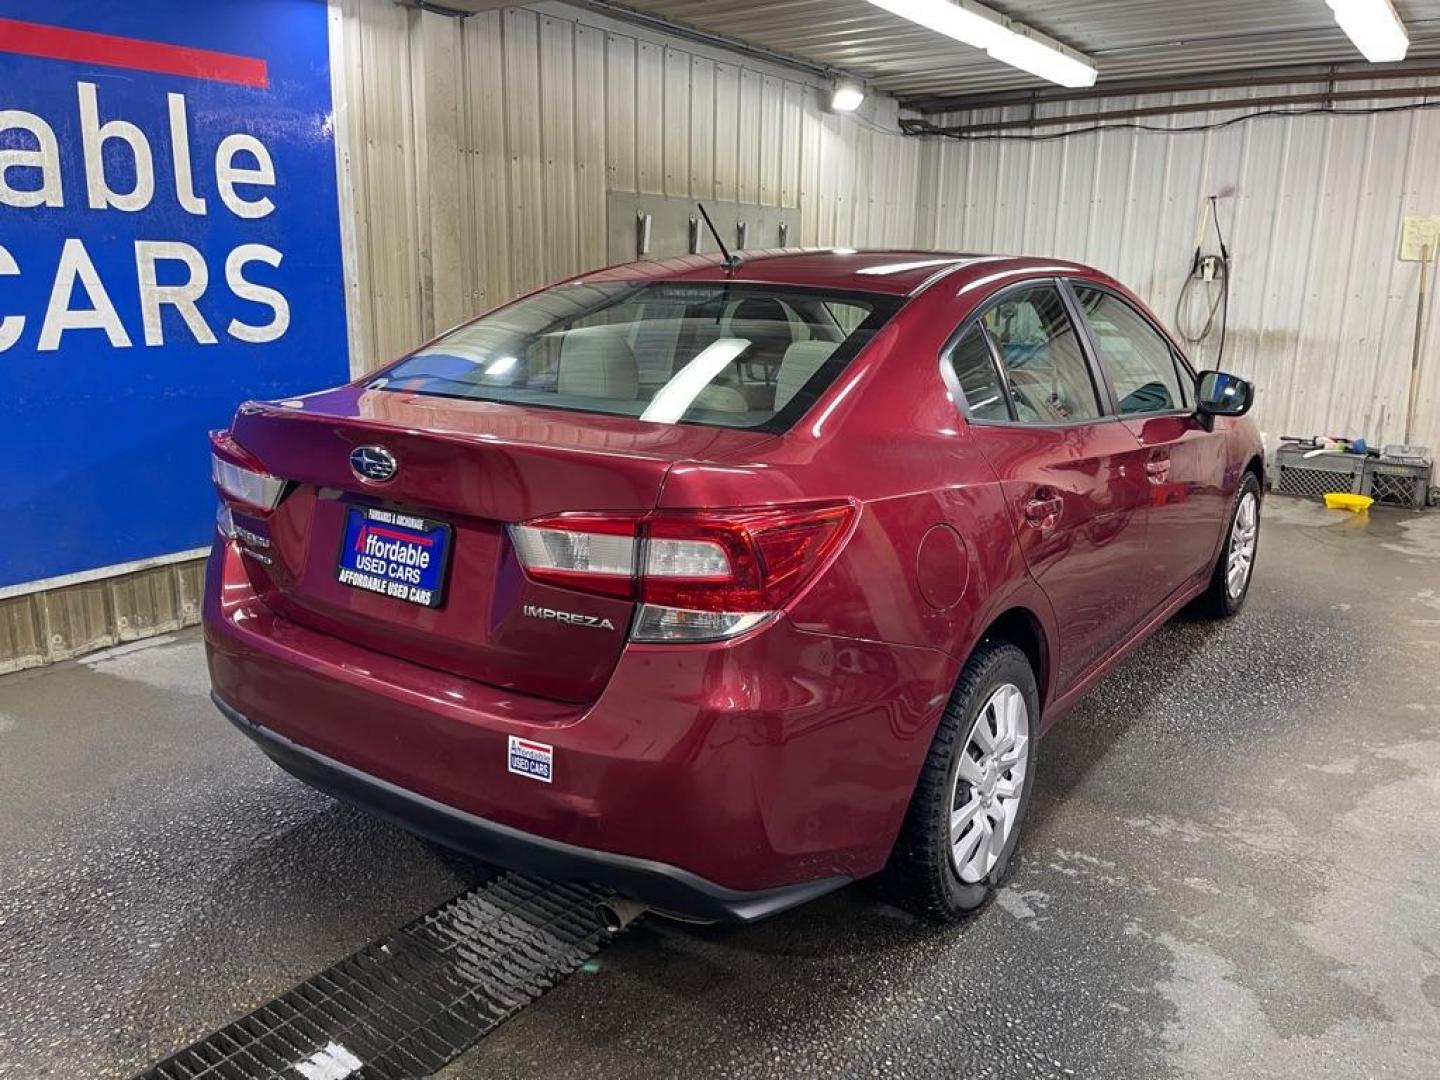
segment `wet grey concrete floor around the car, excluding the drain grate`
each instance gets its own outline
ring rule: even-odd
[[[1440,1074],[1440,514],[1266,516],[1244,615],[1045,739],[968,926],[647,920],[445,1076]],[[482,873],[204,691],[194,635],[0,680],[0,1077],[124,1077]]]

